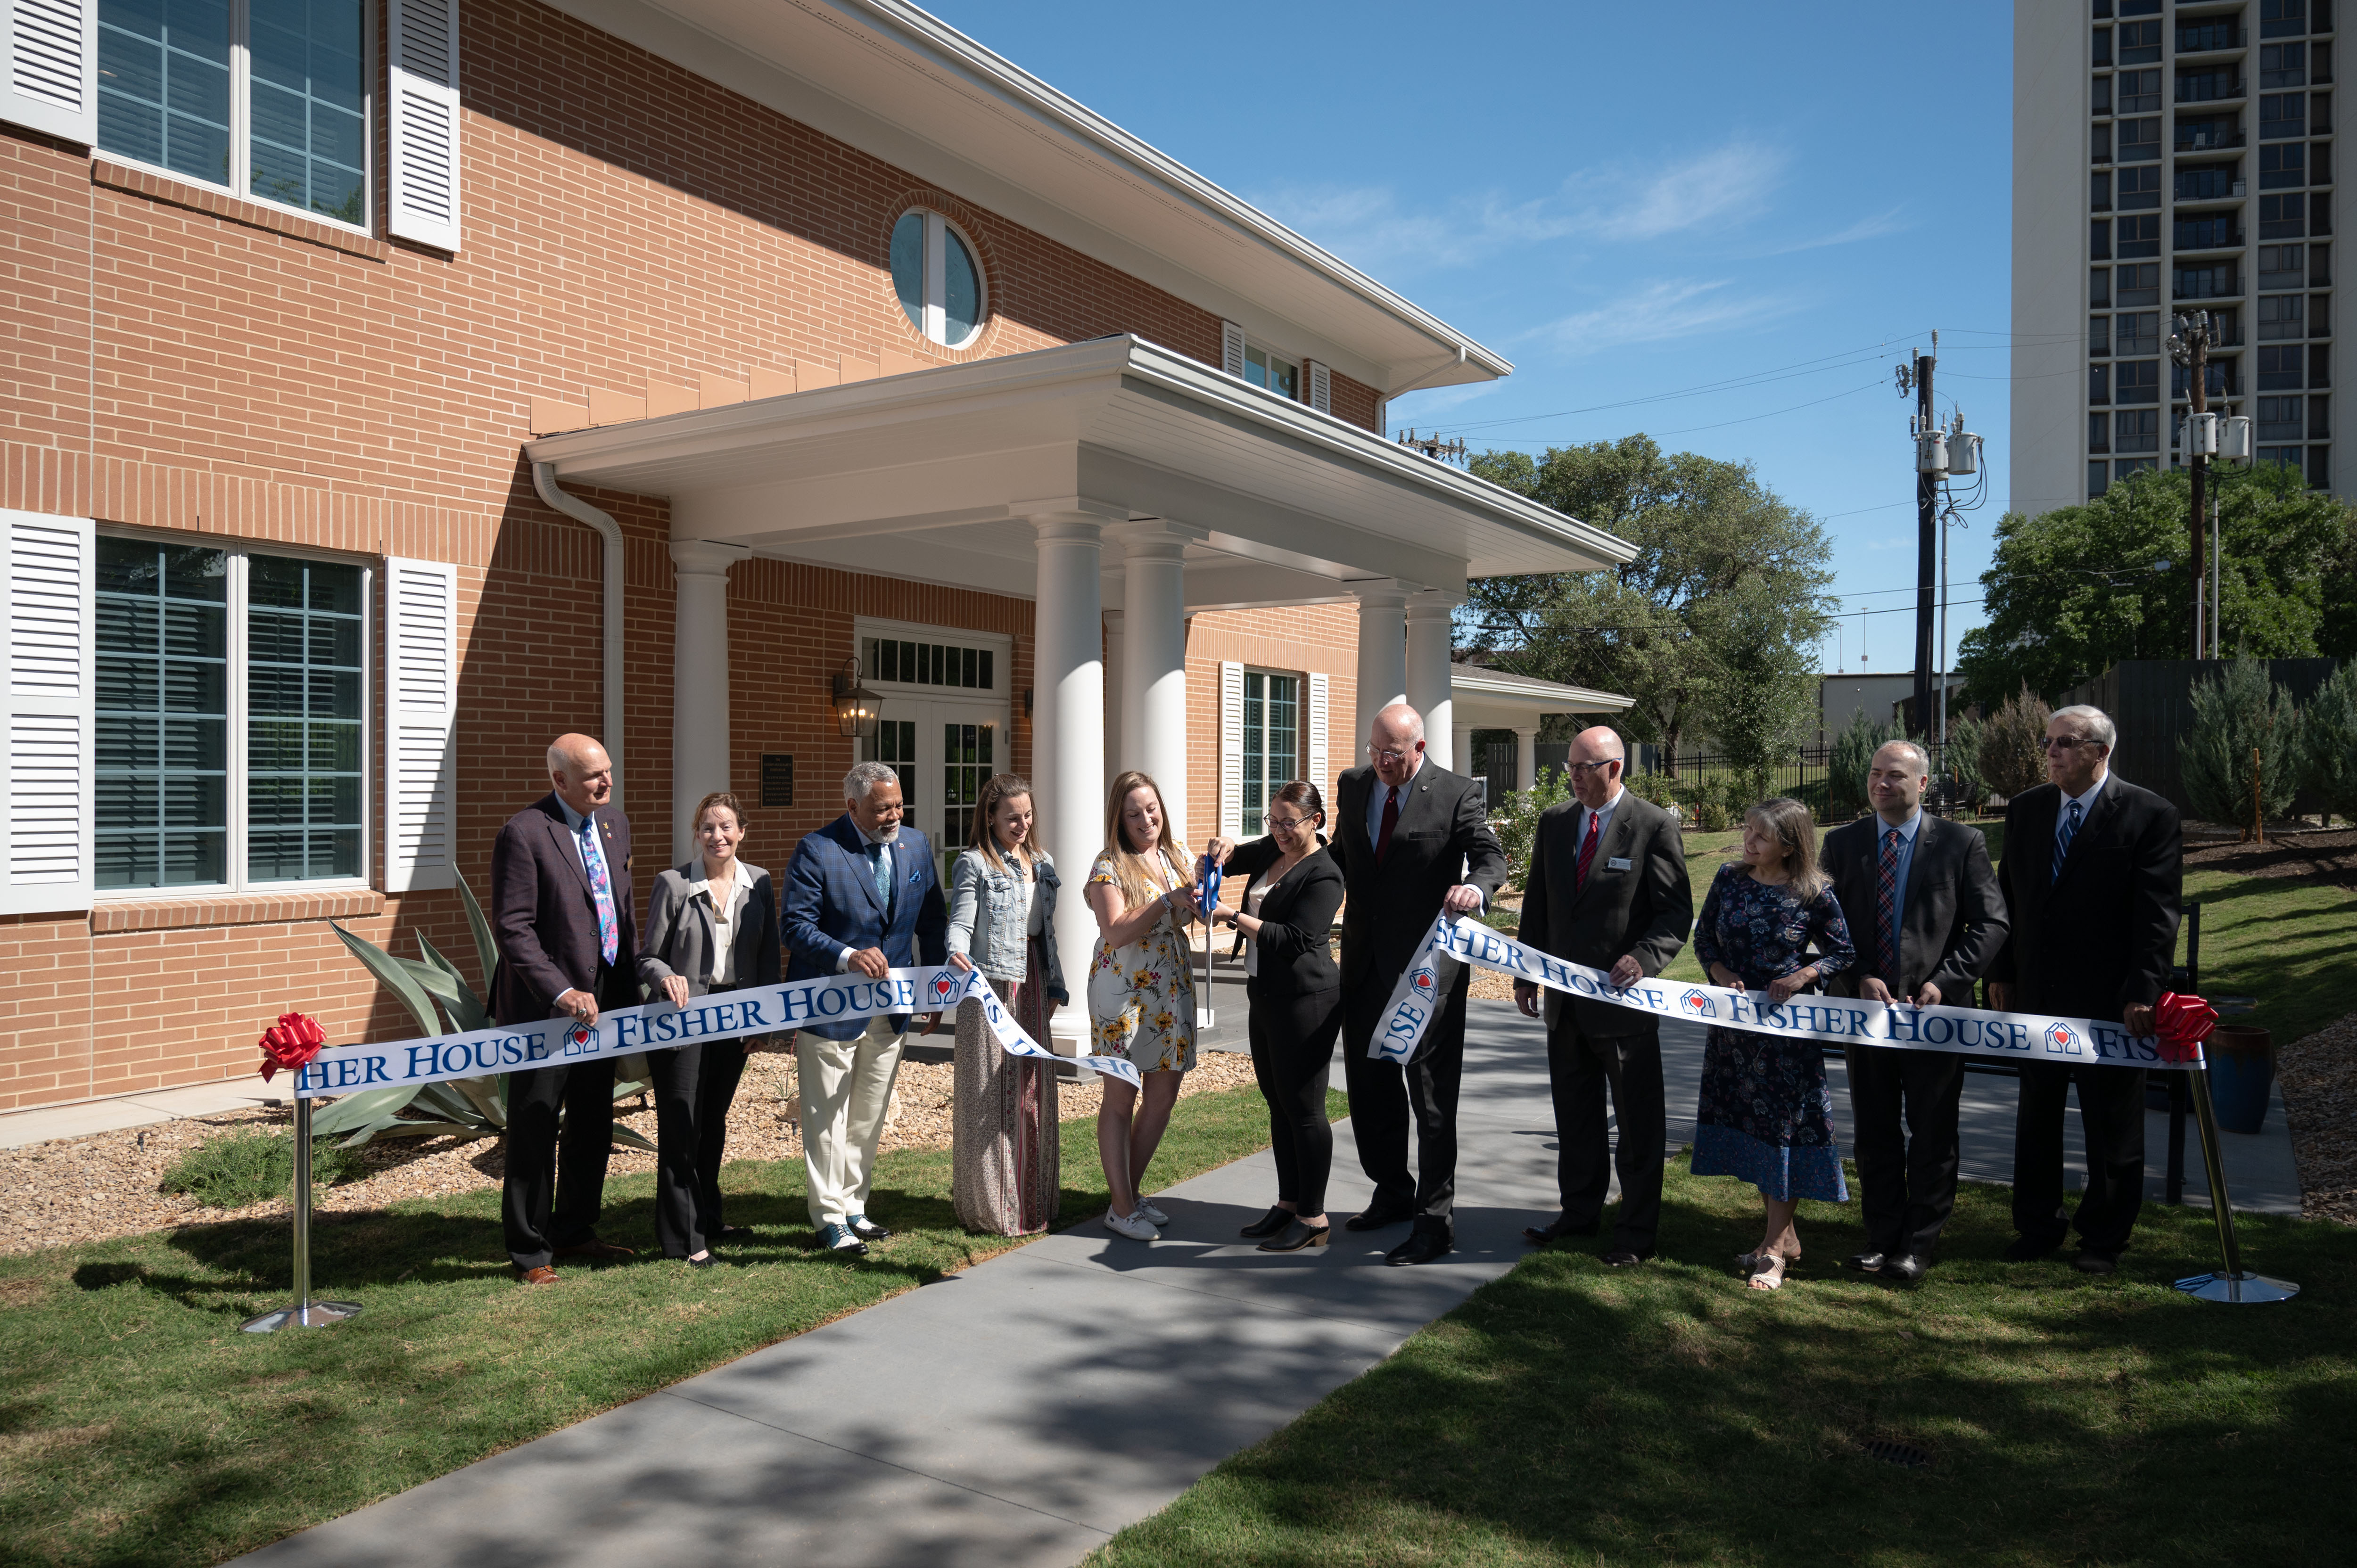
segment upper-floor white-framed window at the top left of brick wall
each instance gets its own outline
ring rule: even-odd
[[[97,0],[99,151],[368,229],[368,0]]]

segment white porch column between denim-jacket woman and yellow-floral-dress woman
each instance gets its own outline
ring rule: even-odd
[[[1056,856],[1056,953],[1072,1007],[1056,1009],[1056,1049],[1089,1033],[1082,997],[1096,946],[1096,917],[1082,903],[1089,863],[1105,839],[1105,663],[1103,585],[1105,519],[1089,512],[1030,514],[1039,540],[1039,587],[1032,606],[1037,641],[1032,703],[1032,788],[1039,839]]]

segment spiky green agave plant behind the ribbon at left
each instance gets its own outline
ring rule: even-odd
[[[483,920],[483,905],[474,901],[474,889],[467,887],[464,877],[457,879],[457,896],[467,905],[467,929],[474,934],[474,953],[483,964],[483,974],[490,974],[500,962],[500,953],[490,941],[490,922]],[[457,964],[443,957],[434,943],[427,941],[424,931],[417,934],[417,950],[424,957],[394,957],[377,943],[354,936],[342,924],[332,920],[328,924],[335,927],[335,934],[344,941],[351,955],[361,960],[368,971],[401,1000],[403,1007],[410,1009],[410,1016],[417,1019],[420,1035],[460,1035],[490,1028],[490,1009],[483,1007],[478,995],[474,995],[474,988],[467,983],[467,976],[457,971]],[[629,1061],[643,1063],[641,1056],[632,1056]],[[613,1096],[625,1099],[643,1087],[646,1082],[632,1075],[613,1087]],[[358,1094],[346,1094],[311,1118],[313,1137],[349,1134],[344,1139],[344,1148],[358,1148],[377,1137],[483,1139],[504,1129],[507,1073],[453,1078],[448,1082],[429,1085],[361,1089]],[[648,1153],[655,1151],[651,1141],[629,1127],[615,1127],[613,1141],[629,1148],[643,1148]]]

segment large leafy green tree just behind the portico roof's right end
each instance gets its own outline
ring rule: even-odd
[[[1629,693],[1622,722],[1662,747],[1664,771],[1676,773],[1678,745],[1704,731],[1747,752],[1789,752],[1815,705],[1794,672],[1815,667],[1831,625],[1831,549],[1815,519],[1749,462],[1664,455],[1650,436],[1544,457],[1483,453],[1471,467],[1636,547],[1603,573],[1473,580],[1475,646],[1523,674]]]

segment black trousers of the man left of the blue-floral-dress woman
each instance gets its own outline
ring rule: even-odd
[[[1612,1221],[1612,1247],[1652,1257],[1662,1231],[1662,1148],[1669,1137],[1662,1089],[1662,1030],[1638,1035],[1584,1035],[1563,1007],[1546,1030],[1546,1082],[1556,1096],[1556,1186],[1563,1219],[1596,1224],[1622,1179],[1622,1207]],[[1605,1089],[1619,1120],[1619,1148],[1605,1134]]]

